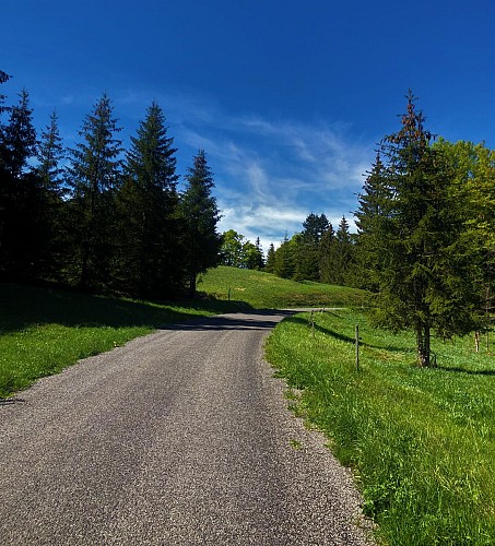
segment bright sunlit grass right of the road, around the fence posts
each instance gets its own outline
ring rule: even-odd
[[[291,405],[351,466],[365,513],[393,545],[495,544],[495,364],[472,340],[434,344],[419,369],[413,335],[353,311],[298,314],[267,342]],[[360,371],[354,328],[361,328]],[[491,351],[495,347],[492,345]]]

